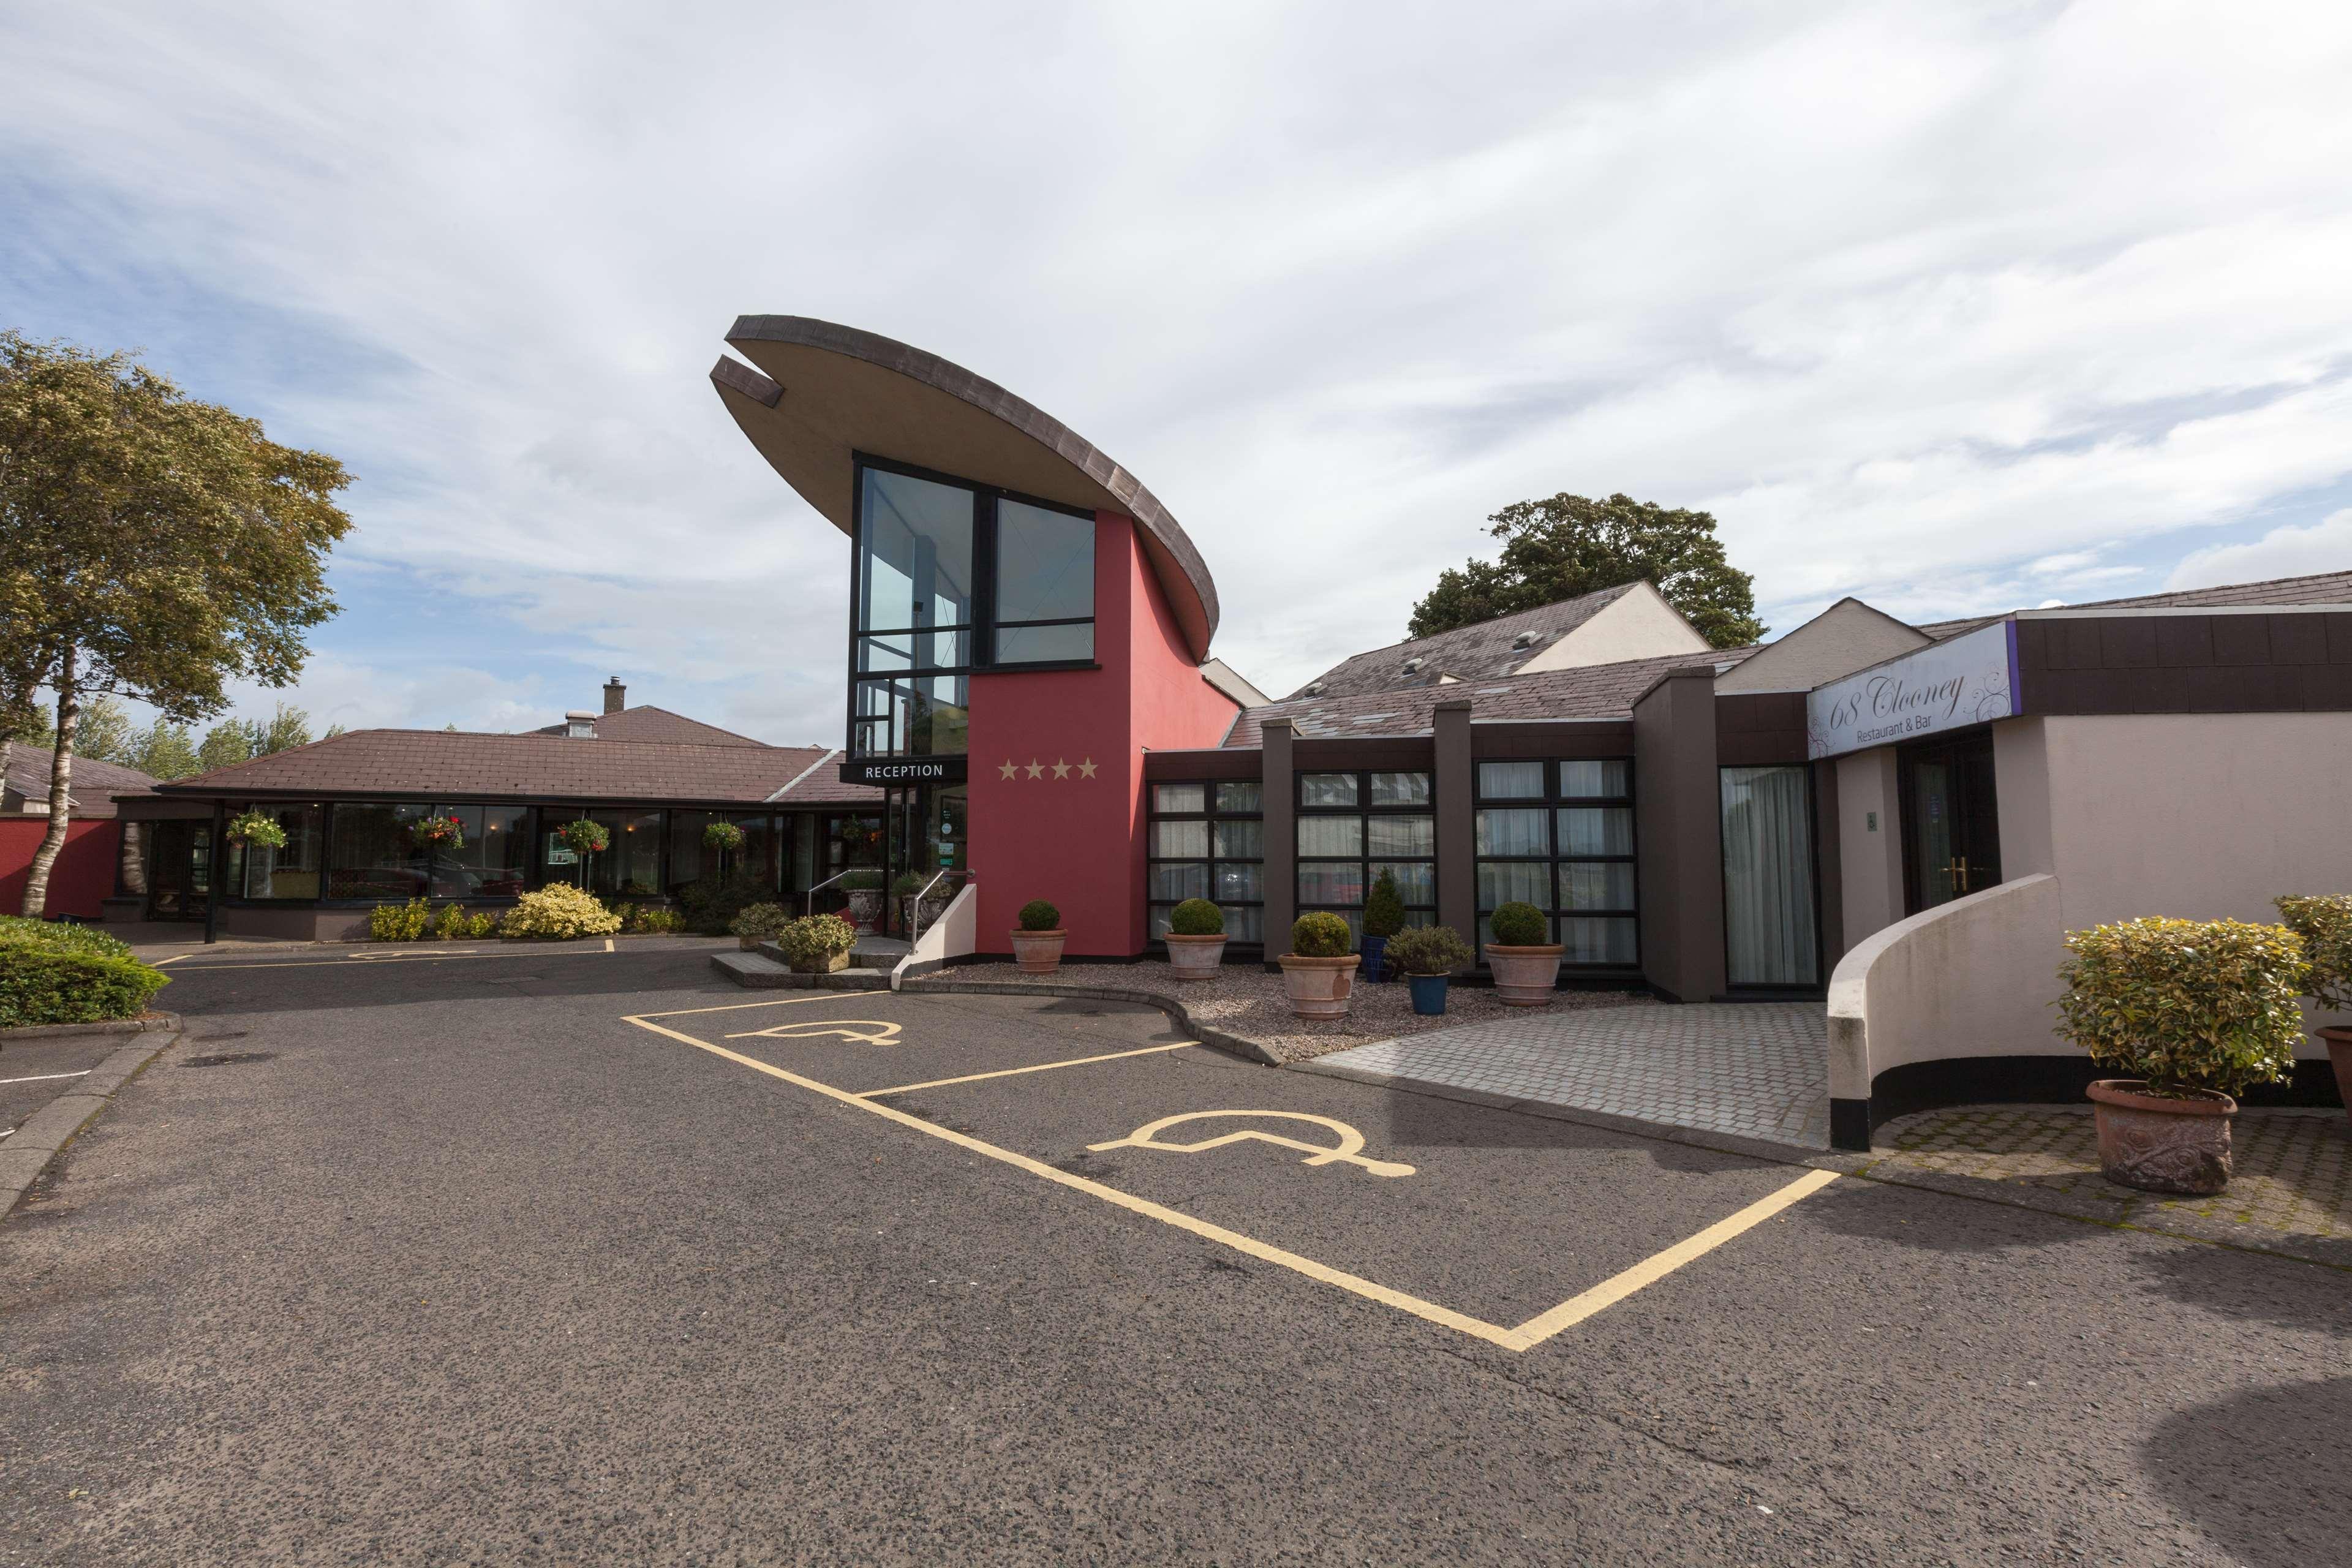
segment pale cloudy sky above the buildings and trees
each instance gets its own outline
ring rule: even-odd
[[[0,59],[0,324],[360,480],[322,724],[621,675],[837,741],[739,313],[1077,428],[1275,691],[1552,491],[1712,510],[1780,630],[2352,567],[2333,0],[82,0]]]

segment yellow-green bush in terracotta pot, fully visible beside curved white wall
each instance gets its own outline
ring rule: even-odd
[[[2091,1084],[2100,1173],[2143,1192],[2220,1192],[2232,1095],[2296,1070],[2303,938],[2237,919],[2126,919],[2067,931],[2065,945],[2058,1034],[2131,1074]]]

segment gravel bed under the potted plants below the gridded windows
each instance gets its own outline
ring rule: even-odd
[[[1021,985],[1044,976],[1023,976],[1011,964],[957,964],[941,969],[929,980],[955,980],[960,985]],[[910,990],[922,990],[924,980],[913,980]],[[1223,964],[1214,980],[1176,980],[1164,961],[1141,964],[1063,964],[1051,976],[1051,985],[1101,985],[1105,990],[1141,990],[1155,997],[1181,1001],[1204,1027],[1242,1034],[1268,1046],[1287,1063],[1303,1063],[1310,1056],[1329,1056],[1350,1046],[1369,1046],[1376,1039],[1399,1039],[1423,1030],[1449,1030],[1470,1023],[1491,1023],[1503,1013],[1524,1009],[1503,1006],[1486,985],[1449,985],[1446,1011],[1423,1018],[1414,1011],[1411,987],[1404,980],[1369,985],[1362,976],[1355,983],[1355,1001],[1345,1018],[1317,1023],[1291,1013],[1282,990],[1282,976],[1265,973],[1256,964]],[[1555,1009],[1590,1006],[1656,1006],[1649,992],[1555,992]]]

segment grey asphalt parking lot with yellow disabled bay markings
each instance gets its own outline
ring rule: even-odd
[[[0,1222],[0,1563],[2352,1559],[2343,1269],[1122,1004],[174,976]]]

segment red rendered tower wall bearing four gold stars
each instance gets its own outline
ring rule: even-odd
[[[1216,745],[1232,724],[1117,512],[1094,517],[1094,661],[971,677],[981,952],[1011,950],[1004,933],[1030,898],[1061,907],[1073,957],[1141,952],[1143,750]]]

